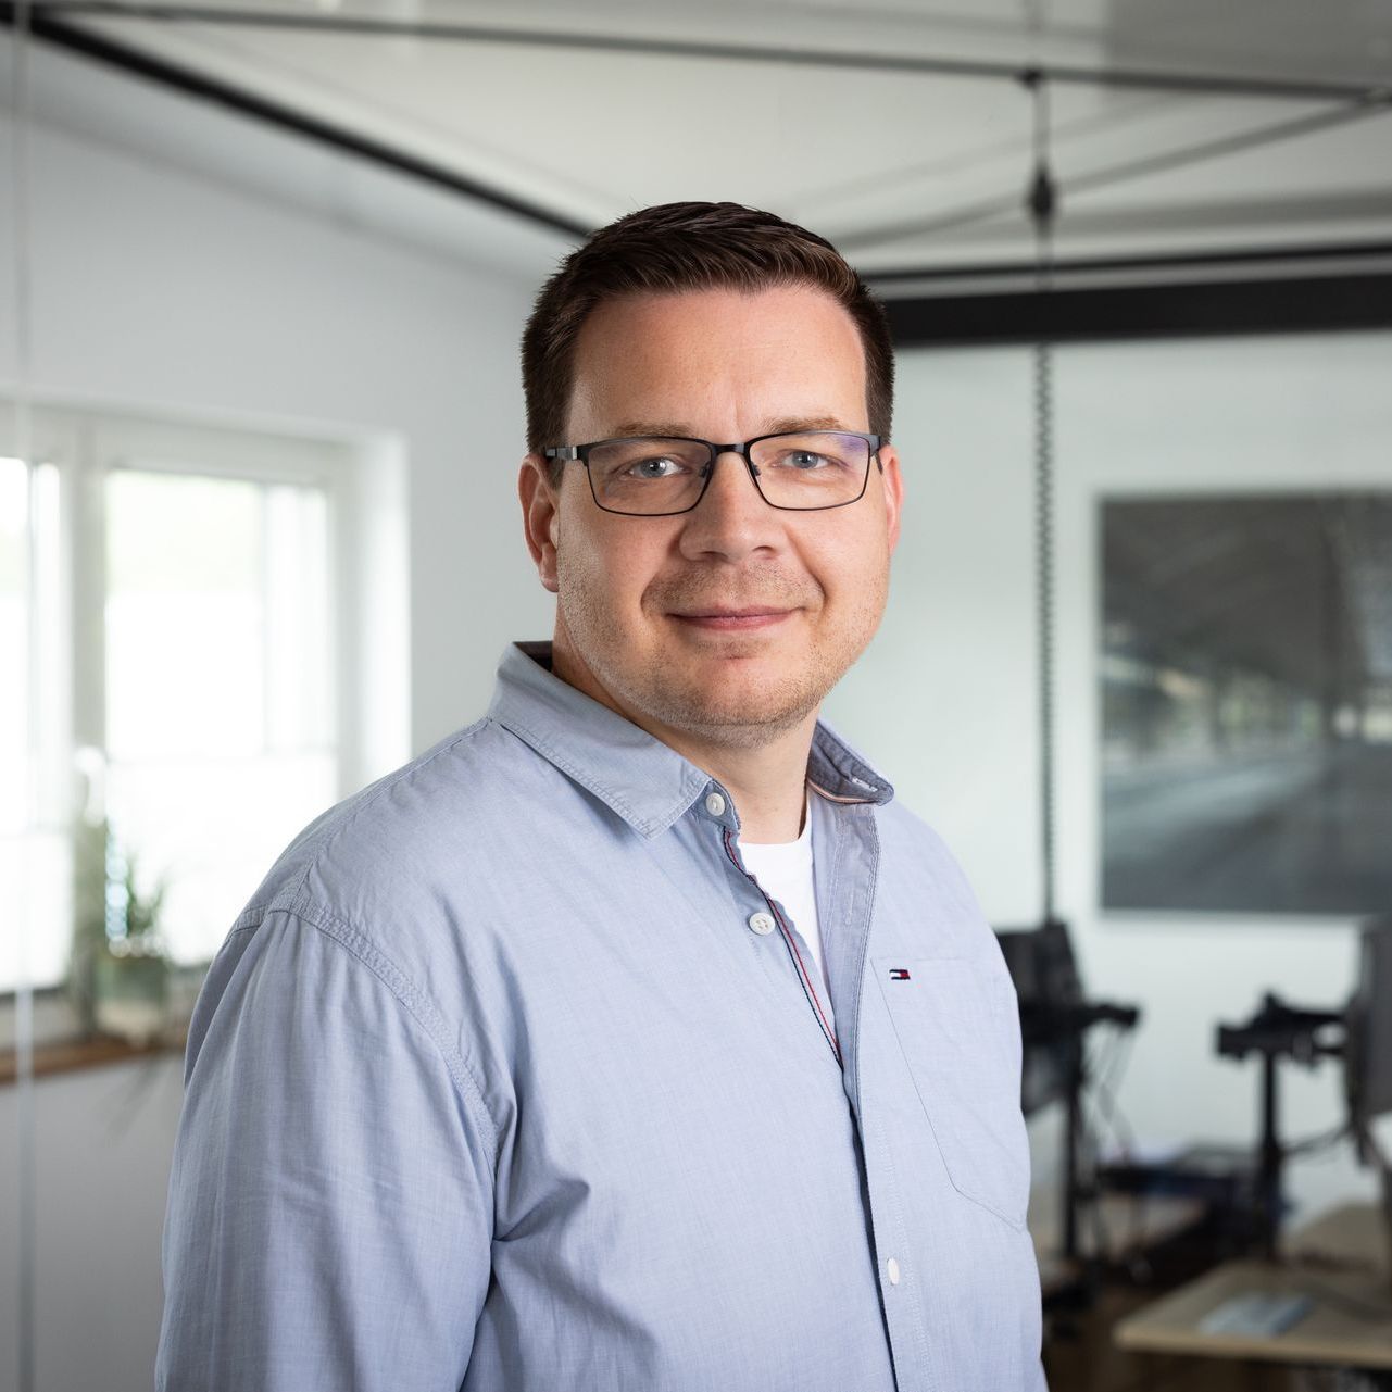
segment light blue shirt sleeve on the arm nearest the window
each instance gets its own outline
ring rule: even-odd
[[[354,934],[242,931],[191,1031],[156,1386],[457,1392],[490,1274],[479,1094]]]

